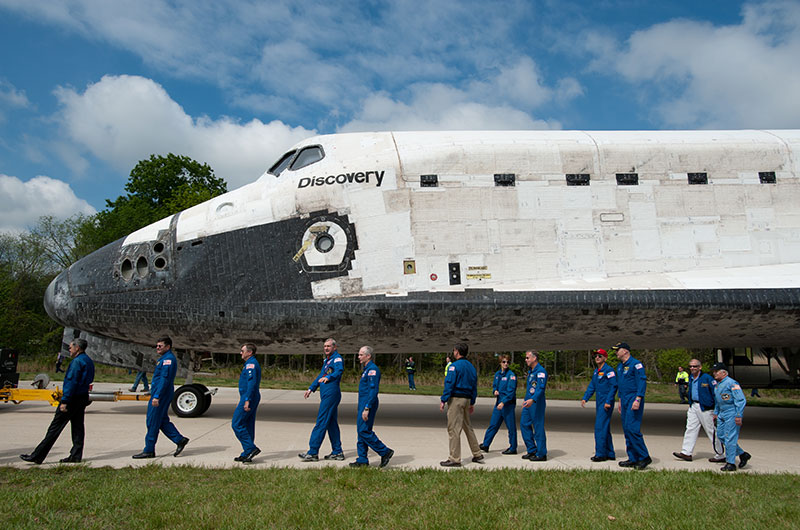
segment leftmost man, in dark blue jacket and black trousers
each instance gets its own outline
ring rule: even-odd
[[[86,405],[89,404],[89,385],[94,381],[94,363],[86,355],[87,343],[84,339],[75,339],[69,345],[69,354],[73,358],[64,375],[64,390],[61,403],[56,408],[56,415],[44,439],[31,454],[19,455],[26,462],[41,464],[47,453],[53,448],[61,431],[70,424],[72,431],[72,449],[69,456],[62,458],[62,463],[77,463],[83,458],[83,439],[86,433],[83,425]]]

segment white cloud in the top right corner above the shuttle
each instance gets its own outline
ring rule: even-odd
[[[622,47],[596,40],[608,54],[603,62],[641,85],[668,126],[800,123],[800,3],[747,5],[739,25],[673,20],[635,32]]]

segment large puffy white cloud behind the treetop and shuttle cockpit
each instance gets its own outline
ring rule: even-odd
[[[62,87],[56,96],[66,138],[95,157],[127,172],[151,154],[185,155],[208,163],[228,189],[252,182],[287,147],[315,134],[280,121],[193,118],[161,85],[137,76],[104,76],[83,93]],[[75,168],[74,149],[64,154]]]

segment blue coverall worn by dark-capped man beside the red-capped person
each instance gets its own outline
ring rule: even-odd
[[[647,376],[644,365],[628,357],[624,363],[617,365],[617,385],[619,385],[620,417],[622,431],[625,433],[625,448],[628,460],[639,462],[648,458],[650,453],[642,436],[642,415],[644,414],[644,394],[647,390]],[[639,409],[631,410],[636,398],[639,398]]]

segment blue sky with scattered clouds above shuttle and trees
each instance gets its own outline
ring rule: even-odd
[[[363,130],[800,128],[800,1],[0,0],[0,230],[173,152]]]

